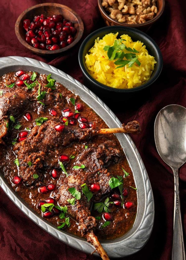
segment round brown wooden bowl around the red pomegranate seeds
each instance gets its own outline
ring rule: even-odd
[[[26,31],[23,27],[23,21],[25,19],[30,19],[31,21],[34,19],[35,15],[41,15],[44,16],[53,16],[53,15],[59,15],[61,14],[64,19],[67,19],[73,23],[73,26],[76,28],[77,32],[74,36],[74,41],[69,44],[68,46],[58,49],[58,50],[41,50],[36,49],[30,44],[28,44],[25,41]],[[43,3],[43,4],[37,4],[34,5],[25,11],[23,11],[20,16],[17,18],[16,24],[15,24],[15,32],[18,40],[20,43],[22,43],[26,48],[29,50],[39,54],[39,55],[50,55],[50,54],[59,54],[63,53],[64,51],[69,50],[73,46],[78,43],[78,41],[81,39],[84,31],[83,21],[81,20],[80,16],[76,14],[75,11],[73,11],[68,6],[62,5],[62,4],[56,4],[56,3]]]

